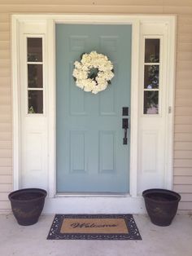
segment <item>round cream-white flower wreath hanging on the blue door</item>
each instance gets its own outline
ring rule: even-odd
[[[82,90],[97,94],[105,90],[114,77],[113,64],[106,55],[91,51],[82,55],[81,61],[75,61],[72,76],[76,86]]]

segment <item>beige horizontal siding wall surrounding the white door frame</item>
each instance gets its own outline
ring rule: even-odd
[[[181,210],[192,210],[192,1],[191,0],[0,0],[0,210],[12,190],[11,14],[177,14],[174,189]],[[53,4],[54,3],[54,4]]]

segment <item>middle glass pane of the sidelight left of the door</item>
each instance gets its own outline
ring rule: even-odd
[[[42,65],[28,64],[28,88],[42,88]]]

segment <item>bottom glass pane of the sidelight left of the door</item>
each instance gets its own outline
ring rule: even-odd
[[[28,90],[28,113],[43,113],[42,95],[42,90]]]

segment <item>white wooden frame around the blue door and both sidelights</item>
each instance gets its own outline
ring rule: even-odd
[[[138,120],[139,120],[139,73],[140,73],[140,29],[142,24],[164,24],[168,29],[168,67],[169,73],[167,77],[168,95],[167,106],[172,109],[172,112],[166,117],[166,145],[167,159],[165,161],[165,187],[172,188],[172,148],[173,148],[173,107],[174,107],[174,76],[175,76],[175,28],[176,17],[174,15],[12,15],[12,100],[13,100],[13,176],[14,189],[20,188],[20,26],[23,23],[27,24],[44,24],[46,25],[46,123],[48,135],[48,155],[47,165],[47,187],[50,199],[50,205],[55,205],[56,200],[60,202],[61,198],[56,196],[55,185],[55,24],[132,24],[132,79],[131,79],[131,113],[130,113],[130,192],[129,195],[121,196],[122,200],[141,197],[137,196],[137,166],[138,166]],[[68,196],[65,197],[68,201]],[[78,196],[77,196],[78,197]],[[89,196],[91,197],[91,196]],[[97,197],[97,196],[94,196]],[[98,205],[103,204],[103,199]],[[114,197],[116,198],[116,196]],[[55,201],[54,201],[55,200]],[[84,200],[84,199],[83,199]],[[86,201],[85,204],[90,203]],[[138,202],[138,201],[137,201]],[[137,205],[135,201],[135,205]],[[96,203],[97,205],[97,203]],[[116,203],[115,203],[116,205]],[[124,205],[124,204],[123,204]],[[51,208],[52,206],[50,206]],[[102,209],[102,207],[100,207]],[[139,211],[139,206],[136,206]],[[136,209],[135,208],[135,209]],[[99,207],[98,207],[99,209]],[[115,208],[114,208],[115,209]],[[120,208],[119,208],[120,209]],[[50,212],[48,210],[47,212]]]

